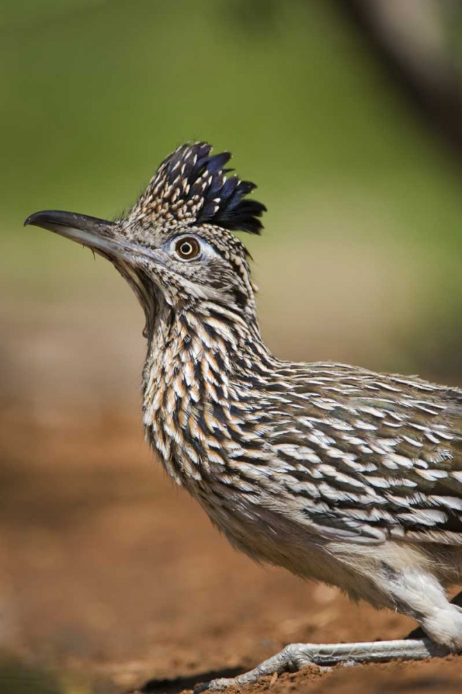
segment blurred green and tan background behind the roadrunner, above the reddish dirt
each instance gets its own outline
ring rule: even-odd
[[[459,378],[459,167],[338,3],[3,0],[0,31],[8,400],[135,403],[135,298],[22,221],[113,217],[198,138],[268,206],[248,245],[276,353]]]

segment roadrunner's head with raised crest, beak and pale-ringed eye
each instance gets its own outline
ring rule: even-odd
[[[57,232],[110,260],[142,303],[148,330],[160,301],[173,310],[205,301],[253,314],[248,253],[231,231],[259,234],[266,208],[246,198],[253,183],[227,176],[230,153],[211,151],[204,142],[179,147],[117,221],[45,210],[25,224]]]

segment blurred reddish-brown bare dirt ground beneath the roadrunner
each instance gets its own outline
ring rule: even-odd
[[[395,638],[413,627],[234,552],[166,479],[137,418],[87,420],[80,408],[25,419],[8,407],[0,427],[3,652],[84,672],[104,691],[162,694],[242,672],[286,643]],[[462,668],[457,657],[307,668],[246,691],[269,687],[449,694],[462,691]]]

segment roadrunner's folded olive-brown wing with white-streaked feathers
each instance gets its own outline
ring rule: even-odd
[[[268,484],[292,516],[332,539],[462,543],[461,390],[300,365],[268,384],[262,409]]]

